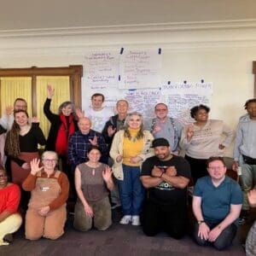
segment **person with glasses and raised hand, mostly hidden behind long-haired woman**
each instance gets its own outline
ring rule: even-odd
[[[0,119],[0,125],[3,126],[3,128],[7,131],[9,131],[12,128],[12,125],[15,120],[14,111],[18,110],[27,110],[26,100],[22,98],[16,98],[14,107],[7,106],[5,109],[5,113]]]

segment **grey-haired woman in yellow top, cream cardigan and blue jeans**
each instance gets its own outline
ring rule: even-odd
[[[118,179],[119,195],[124,217],[120,224],[140,225],[139,214],[142,210],[144,189],[140,181],[140,166],[153,153],[150,146],[153,136],[143,130],[143,116],[140,113],[128,113],[124,130],[113,137],[110,156],[113,175]]]

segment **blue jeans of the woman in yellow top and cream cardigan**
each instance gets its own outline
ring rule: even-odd
[[[124,215],[139,215],[142,211],[144,188],[139,166],[123,165],[124,180],[118,180],[119,196]]]

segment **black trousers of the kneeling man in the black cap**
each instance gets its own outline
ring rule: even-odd
[[[143,205],[141,222],[147,236],[155,236],[164,230],[169,236],[180,239],[185,235],[188,224],[186,201],[160,204],[147,199]]]

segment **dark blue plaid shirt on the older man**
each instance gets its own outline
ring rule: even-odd
[[[108,146],[105,143],[104,137],[101,133],[90,130],[88,134],[83,134],[81,131],[76,131],[70,137],[68,143],[68,160],[70,160],[73,167],[88,161],[87,153],[91,143],[89,139],[97,137],[98,147],[102,152],[101,162],[108,164]]]

